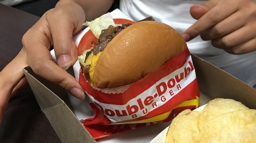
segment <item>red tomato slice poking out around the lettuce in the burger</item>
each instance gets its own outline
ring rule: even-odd
[[[126,24],[131,23],[134,24],[134,21],[128,20],[128,19],[113,19],[115,24]],[[94,36],[93,32],[91,30],[87,31],[84,36],[81,38],[77,50],[78,50],[78,56],[83,55],[83,52],[87,49],[93,48],[97,43],[97,38]]]

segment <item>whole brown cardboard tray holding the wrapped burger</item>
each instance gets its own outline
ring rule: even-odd
[[[230,74],[191,55],[200,89],[200,106],[214,98],[229,98],[256,109],[256,90]],[[23,69],[34,96],[60,140],[65,143],[96,142],[76,118],[66,91],[37,76],[30,67]],[[73,69],[68,69],[73,74]]]

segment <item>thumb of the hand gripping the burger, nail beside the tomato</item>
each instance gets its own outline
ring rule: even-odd
[[[45,17],[50,27],[57,63],[62,69],[67,70],[75,64],[78,57],[77,47],[72,38],[83,27],[84,11],[79,5],[70,4],[50,10]]]

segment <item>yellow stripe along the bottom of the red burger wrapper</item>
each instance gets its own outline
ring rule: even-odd
[[[186,107],[186,106],[193,106],[193,105],[196,106],[196,108],[199,106],[199,97],[198,96],[196,96],[196,99],[192,99],[192,100],[182,102],[181,104],[177,105],[173,109],[178,108],[178,107]],[[134,122],[123,122],[123,123],[120,123],[120,124],[157,122],[157,121],[166,119],[171,114],[172,110],[170,112],[167,112],[167,113],[164,113],[164,114],[161,114],[161,115],[149,118],[149,119],[134,121]]]

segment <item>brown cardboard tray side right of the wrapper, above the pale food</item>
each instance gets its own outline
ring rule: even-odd
[[[229,98],[256,109],[256,90],[198,56],[191,55],[198,86],[209,98]]]

